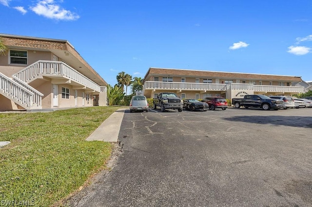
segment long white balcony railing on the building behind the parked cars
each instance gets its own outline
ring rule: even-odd
[[[302,86],[263,86],[253,84],[202,84],[202,83],[181,83],[181,82],[156,82],[146,81],[146,89],[176,89],[176,90],[215,90],[226,91],[228,89],[254,90],[254,91],[272,91],[272,92],[297,92],[303,93]]]

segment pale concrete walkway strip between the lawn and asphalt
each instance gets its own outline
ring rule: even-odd
[[[120,124],[123,119],[125,108],[117,109],[86,139],[87,141],[117,142]]]

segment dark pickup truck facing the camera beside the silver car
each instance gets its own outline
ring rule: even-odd
[[[164,92],[159,93],[157,98],[153,99],[154,109],[161,108],[161,112],[165,112],[166,109],[177,109],[179,112],[183,109],[183,102],[175,93]]]

